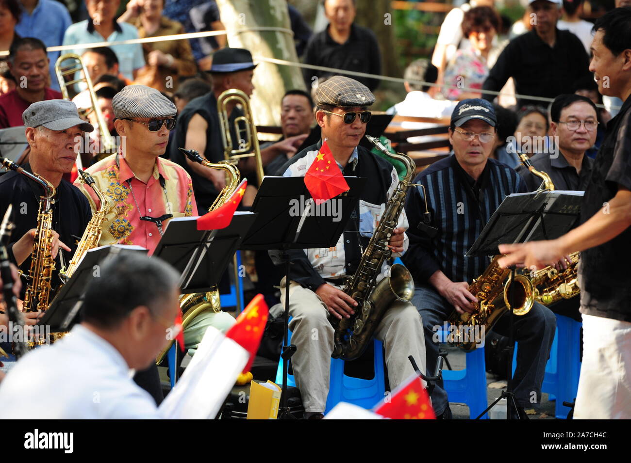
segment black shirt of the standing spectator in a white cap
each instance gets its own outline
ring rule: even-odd
[[[509,77],[515,81],[518,94],[556,98],[568,93],[581,77],[590,75],[589,57],[578,37],[557,29],[554,47],[543,42],[532,31],[514,38],[506,45],[482,88],[500,91]],[[495,95],[483,93],[493,101]],[[517,100],[517,105],[541,105],[541,101]]]

